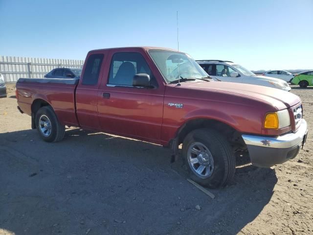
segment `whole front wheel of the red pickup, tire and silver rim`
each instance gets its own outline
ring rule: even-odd
[[[190,132],[182,145],[190,177],[208,188],[225,186],[235,174],[235,157],[228,141],[215,130]]]

